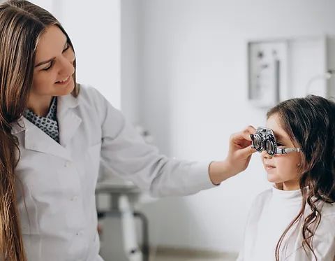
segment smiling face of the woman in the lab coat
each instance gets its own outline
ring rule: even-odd
[[[61,96],[75,87],[73,62],[75,54],[59,27],[47,27],[36,50],[31,96]]]

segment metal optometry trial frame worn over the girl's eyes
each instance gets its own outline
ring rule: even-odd
[[[301,148],[278,148],[272,129],[259,127],[255,134],[250,135],[250,138],[253,148],[259,153],[265,150],[267,154],[273,156],[301,151]]]

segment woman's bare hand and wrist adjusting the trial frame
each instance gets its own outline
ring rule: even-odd
[[[255,153],[251,146],[250,134],[254,134],[256,129],[248,126],[242,132],[237,132],[230,136],[228,156],[222,162],[211,162],[209,165],[209,177],[211,182],[219,184],[239,172],[244,171]]]

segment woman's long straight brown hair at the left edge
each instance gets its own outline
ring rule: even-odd
[[[0,260],[27,260],[15,192],[20,188],[15,176],[20,149],[11,126],[27,106],[38,39],[52,25],[64,32],[73,48],[66,31],[47,10],[29,1],[0,5]],[[77,97],[77,86],[72,94]]]

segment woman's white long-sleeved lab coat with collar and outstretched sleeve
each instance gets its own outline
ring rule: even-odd
[[[98,174],[119,175],[152,195],[211,188],[209,162],[159,155],[94,88],[58,97],[60,144],[26,118],[12,124],[20,143],[17,204],[29,261],[102,260],[98,255]]]

